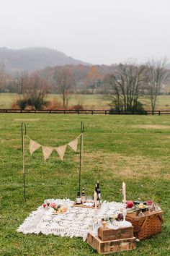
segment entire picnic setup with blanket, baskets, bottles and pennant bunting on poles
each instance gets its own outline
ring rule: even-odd
[[[53,150],[61,160],[67,145],[75,152],[79,150],[79,189],[75,200],[46,199],[37,210],[30,213],[24,223],[17,229],[23,234],[53,234],[56,236],[81,237],[99,254],[122,252],[135,248],[135,242],[147,239],[161,232],[162,210],[151,200],[127,200],[126,184],[122,183],[122,202],[102,200],[99,181],[94,187],[92,196],[81,189],[81,158],[83,153],[84,124],[81,122],[80,135],[66,145],[51,147],[41,145],[27,136],[26,125],[22,123],[22,161],[24,181],[24,201],[26,202],[24,137],[30,140],[30,153],[42,148],[46,161]]]

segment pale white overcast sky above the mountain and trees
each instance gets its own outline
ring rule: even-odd
[[[0,0],[0,47],[45,46],[91,64],[170,59],[170,0]]]

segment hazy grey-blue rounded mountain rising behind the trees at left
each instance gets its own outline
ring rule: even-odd
[[[0,47],[0,64],[4,64],[6,69],[27,70],[32,72],[36,69],[63,65],[91,65],[89,63],[73,59],[60,51],[50,48],[23,48],[18,50]]]

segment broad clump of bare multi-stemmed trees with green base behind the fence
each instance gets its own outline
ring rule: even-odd
[[[112,105],[117,110],[138,110],[138,100],[143,92],[144,66],[120,64],[112,74],[107,74],[105,82],[112,89]]]

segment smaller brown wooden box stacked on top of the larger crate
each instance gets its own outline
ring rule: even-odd
[[[98,229],[99,239],[102,241],[112,241],[117,239],[126,239],[133,237],[133,226],[128,228],[120,228],[120,229],[108,229],[103,228],[102,226]]]

